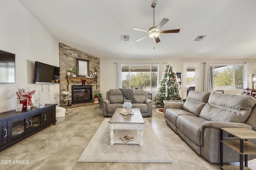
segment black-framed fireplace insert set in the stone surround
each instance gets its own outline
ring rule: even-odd
[[[72,104],[87,103],[92,100],[92,85],[72,85]]]

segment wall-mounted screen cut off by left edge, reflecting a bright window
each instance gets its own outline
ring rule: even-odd
[[[0,50],[0,83],[15,83],[15,54]]]

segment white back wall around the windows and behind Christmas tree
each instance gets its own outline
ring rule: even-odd
[[[163,71],[166,69],[166,65],[172,60],[172,67],[176,72],[181,72],[183,77],[183,63],[200,63],[199,66],[199,91],[204,91],[204,62],[210,63],[244,63],[251,62],[252,74],[256,73],[256,59],[147,59],[147,60],[129,60],[129,59],[100,59],[100,90],[102,96],[106,99],[106,92],[109,89],[116,88],[116,76],[117,76],[117,62],[122,63],[165,63],[163,64]],[[226,90],[227,94],[240,94],[241,90]],[[153,92],[153,98],[156,92]]]

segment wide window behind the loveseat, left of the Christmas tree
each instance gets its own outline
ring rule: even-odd
[[[122,87],[156,90],[157,67],[157,64],[122,65]]]

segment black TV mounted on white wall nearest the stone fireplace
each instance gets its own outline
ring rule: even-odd
[[[60,83],[60,67],[44,64],[36,61],[35,64],[36,84],[56,84]]]

